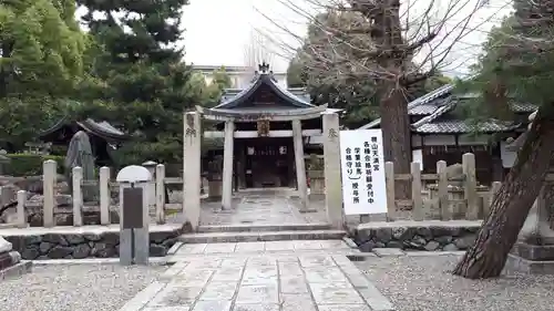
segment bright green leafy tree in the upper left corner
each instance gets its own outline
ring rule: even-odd
[[[0,142],[19,151],[52,125],[83,81],[86,37],[71,0],[0,4]]]

